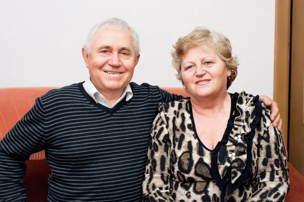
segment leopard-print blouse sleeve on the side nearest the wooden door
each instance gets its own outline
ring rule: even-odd
[[[270,112],[263,106],[257,160],[256,191],[246,201],[284,201],[289,191],[287,157],[283,137],[273,127]]]

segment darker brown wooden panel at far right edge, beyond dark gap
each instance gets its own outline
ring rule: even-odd
[[[304,1],[291,0],[289,162],[304,176]]]

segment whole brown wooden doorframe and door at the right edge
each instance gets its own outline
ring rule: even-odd
[[[304,176],[304,2],[277,0],[274,99],[283,119],[288,161]]]

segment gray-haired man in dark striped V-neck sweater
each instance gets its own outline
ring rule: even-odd
[[[158,105],[181,97],[130,82],[139,41],[123,20],[93,27],[82,54],[90,79],[37,98],[0,142],[0,201],[26,200],[24,161],[43,149],[52,170],[48,201],[141,201]]]

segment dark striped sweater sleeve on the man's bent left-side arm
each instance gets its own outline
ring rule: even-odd
[[[40,98],[0,141],[0,201],[26,201],[25,161],[44,149],[46,127]]]

